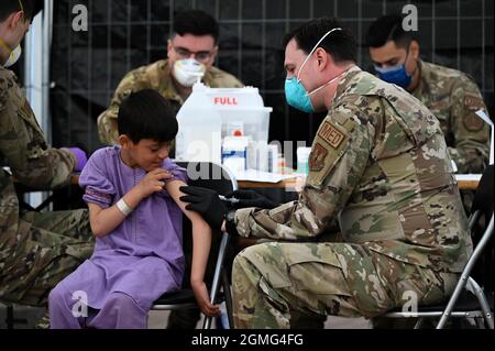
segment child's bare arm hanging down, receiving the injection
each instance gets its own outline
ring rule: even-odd
[[[193,266],[190,284],[195,292],[201,311],[207,316],[218,316],[220,309],[210,303],[205,284],[205,271],[208,263],[208,254],[211,246],[211,228],[196,212],[186,209],[186,202],[180,200],[184,196],[179,188],[186,184],[182,180],[173,180],[166,184],[166,190],[193,223]]]

